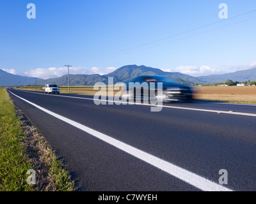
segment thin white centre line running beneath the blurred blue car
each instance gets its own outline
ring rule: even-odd
[[[19,90],[20,91],[20,90]],[[29,92],[29,91],[23,91],[23,92]],[[32,94],[42,94],[42,93],[36,93],[36,92],[29,92]],[[45,95],[45,94],[42,94]],[[49,96],[49,95],[46,95]],[[83,98],[83,97],[77,97],[77,96],[63,96],[63,95],[51,95],[51,96],[58,96],[58,97],[65,97],[65,98],[77,98],[77,99],[84,99],[84,100],[96,100],[96,101],[106,101],[106,102],[113,102],[116,101],[112,100],[104,100],[104,99],[93,99],[93,98]],[[151,104],[145,104],[145,103],[129,103],[129,102],[122,102],[123,104],[128,105],[143,105],[143,106],[156,106]],[[223,111],[223,110],[210,110],[210,109],[202,109],[202,108],[186,108],[186,107],[180,107],[180,106],[166,106],[166,105],[159,105],[163,108],[173,108],[173,109],[180,109],[180,110],[195,110],[200,112],[212,112],[212,113],[225,113],[225,114],[231,114],[231,115],[244,115],[244,116],[252,116],[256,117],[255,113],[243,113],[243,112],[230,112],[230,111]]]

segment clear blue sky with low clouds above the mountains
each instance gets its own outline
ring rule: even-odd
[[[256,67],[255,0],[3,0],[0,10],[0,69],[10,73],[60,77],[65,64],[71,74],[143,64],[192,76]]]

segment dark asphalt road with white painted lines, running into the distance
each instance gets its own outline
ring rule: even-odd
[[[164,103],[150,112],[95,105],[92,96],[9,92],[68,164],[78,191],[207,191],[212,183],[256,191],[256,106]],[[220,170],[228,184],[219,183]]]

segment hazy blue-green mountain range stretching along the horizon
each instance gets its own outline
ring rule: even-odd
[[[246,69],[242,71],[236,71],[234,73],[227,73],[222,75],[208,75],[202,77],[191,77],[186,74],[179,72],[168,72],[162,71],[157,68],[150,68],[147,66],[137,66],[137,65],[127,65],[116,69],[112,73],[107,75],[69,75],[70,85],[94,85],[96,82],[108,83],[108,77],[114,78],[114,83],[116,82],[128,82],[133,78],[141,75],[161,75],[165,77],[174,78],[179,80],[182,84],[214,84],[220,82],[226,82],[228,79],[244,82],[244,81],[255,81],[256,80],[256,68]],[[36,78],[36,85],[44,85],[49,83],[56,83],[58,85],[68,84],[68,75],[64,75],[58,78],[49,78],[47,80],[42,80]],[[12,75],[0,69],[0,86],[4,85],[35,85],[35,78],[33,77],[22,77],[19,75]]]

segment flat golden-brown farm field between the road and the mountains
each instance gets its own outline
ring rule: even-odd
[[[22,87],[22,90],[43,91],[42,87]],[[62,93],[68,93],[68,87],[60,87]],[[256,87],[194,87],[195,99],[222,103],[245,103],[256,105]],[[70,87],[70,93],[94,95],[93,86]],[[114,91],[118,92],[118,91]]]

